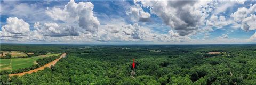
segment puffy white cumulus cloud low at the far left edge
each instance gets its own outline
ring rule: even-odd
[[[7,41],[31,41],[40,40],[42,35],[29,29],[29,24],[17,17],[9,17],[7,24],[1,27],[1,40]]]

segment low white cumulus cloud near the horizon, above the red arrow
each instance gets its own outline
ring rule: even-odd
[[[106,25],[97,34],[98,41],[150,41],[153,34],[150,30],[139,26],[137,23],[133,25]]]

